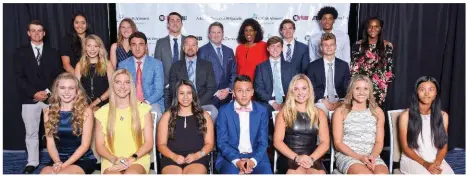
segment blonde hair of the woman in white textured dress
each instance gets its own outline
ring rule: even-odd
[[[348,90],[346,92],[345,100],[343,102],[343,114],[347,114],[351,112],[351,109],[353,108],[353,90],[356,87],[356,82],[358,81],[365,81],[367,85],[369,86],[369,98],[367,99],[366,106],[367,108],[370,109],[372,115],[374,117],[377,117],[377,108],[379,107],[377,103],[375,102],[375,97],[374,97],[374,86],[372,84],[372,81],[365,75],[361,74],[356,74],[351,78],[351,81],[349,83]]]

